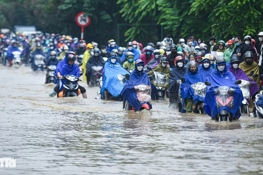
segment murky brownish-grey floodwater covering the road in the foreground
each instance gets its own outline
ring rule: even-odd
[[[0,157],[16,157],[0,175],[263,174],[263,119],[217,123],[168,101],[127,112],[85,83],[88,99],[52,98],[45,72],[0,65],[0,75]]]

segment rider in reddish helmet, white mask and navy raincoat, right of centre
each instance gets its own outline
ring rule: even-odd
[[[174,58],[175,68],[171,70],[174,77],[169,77],[169,107],[175,107],[175,103],[178,100],[178,90],[180,89],[180,84],[177,83],[177,80],[181,81],[181,78],[185,76],[188,71],[188,68],[184,67],[185,60],[182,56],[176,56]]]

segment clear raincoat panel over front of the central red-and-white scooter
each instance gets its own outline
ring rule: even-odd
[[[150,86],[148,85],[138,85],[134,87],[137,93],[137,98],[140,103],[148,102],[151,103],[150,97]]]

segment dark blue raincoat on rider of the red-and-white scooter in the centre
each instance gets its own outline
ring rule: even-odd
[[[131,83],[132,82],[132,83]],[[150,79],[145,71],[133,70],[130,75],[130,80],[125,82],[125,86],[121,91],[121,95],[124,97],[124,102],[127,100],[129,104],[138,111],[143,104],[148,104],[151,109],[150,101],[139,100],[138,97],[142,97],[134,87],[138,85],[148,85],[151,87],[151,98],[158,93],[156,87],[150,83]],[[151,99],[150,99],[151,100]]]

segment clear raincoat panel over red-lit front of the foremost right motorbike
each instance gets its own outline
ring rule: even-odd
[[[222,86],[219,88],[214,89],[216,93],[216,106],[217,108],[220,108],[222,106],[226,106],[230,109],[234,109],[234,102],[233,102],[233,93],[235,89]]]

